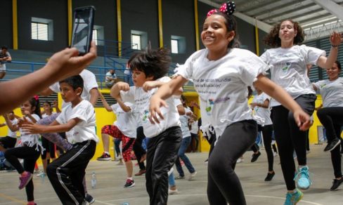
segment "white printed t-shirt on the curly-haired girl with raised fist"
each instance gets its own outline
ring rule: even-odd
[[[270,66],[271,80],[283,87],[292,98],[299,95],[315,94],[307,76],[306,65],[317,65],[319,57],[325,51],[309,46],[292,46],[291,48],[271,48],[261,55],[261,60]],[[280,102],[271,100],[271,107]]]

